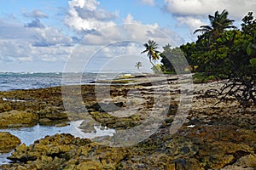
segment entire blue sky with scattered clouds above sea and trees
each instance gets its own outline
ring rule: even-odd
[[[224,9],[239,27],[256,1],[0,0],[0,72],[151,71],[143,43],[195,41]]]

